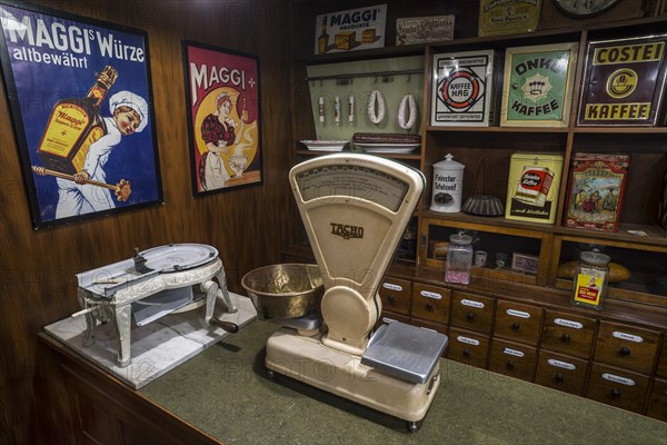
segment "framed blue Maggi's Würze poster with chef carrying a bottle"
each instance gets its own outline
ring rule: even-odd
[[[161,204],[146,31],[18,1],[0,7],[33,227]]]

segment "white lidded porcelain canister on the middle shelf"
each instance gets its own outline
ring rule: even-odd
[[[461,211],[465,168],[466,166],[454,160],[451,155],[447,155],[445,160],[434,164],[431,210]]]

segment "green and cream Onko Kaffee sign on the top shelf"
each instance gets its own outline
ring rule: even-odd
[[[501,127],[567,127],[579,43],[508,48]]]

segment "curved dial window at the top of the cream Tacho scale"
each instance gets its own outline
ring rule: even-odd
[[[375,168],[330,165],[306,170],[296,177],[301,199],[308,202],[325,197],[348,197],[378,204],[396,212],[407,192],[408,184]]]

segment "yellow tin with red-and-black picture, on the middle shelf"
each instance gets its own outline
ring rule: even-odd
[[[505,218],[554,224],[563,156],[514,154],[509,164]]]

